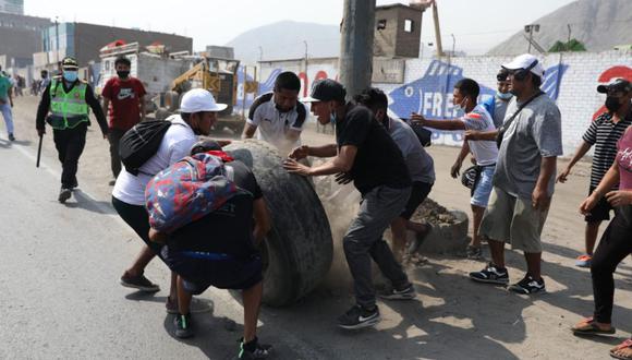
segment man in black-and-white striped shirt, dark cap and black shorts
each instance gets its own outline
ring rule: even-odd
[[[573,166],[595,145],[593,165],[591,170],[591,185],[588,195],[599,185],[599,182],[612,166],[617,157],[617,142],[628,127],[632,125],[632,85],[629,81],[618,79],[609,85],[599,85],[597,92],[607,94],[606,109],[593,123],[583,136],[582,144],[575,151],[573,158],[567,168],[558,177],[559,182],[566,182]],[[612,191],[619,187],[612,188]],[[597,242],[599,225],[603,220],[610,220],[610,211],[613,211],[610,203],[605,199],[593,207],[586,215],[585,247],[586,252],[578,257],[575,265],[580,267],[591,267],[593,250]]]

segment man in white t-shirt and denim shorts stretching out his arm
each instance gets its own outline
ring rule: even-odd
[[[440,130],[474,130],[474,131],[494,131],[494,120],[485,107],[476,103],[476,98],[481,93],[481,87],[472,79],[462,79],[454,85],[453,100],[455,108],[460,108],[465,112],[463,117],[458,120],[426,120],[423,116],[413,113],[411,117],[413,122],[417,122],[424,127],[435,128]],[[496,169],[496,159],[498,158],[498,146],[495,141],[467,141],[469,146],[463,146],[457,163],[452,166],[451,175],[457,178],[459,175],[463,159],[471,152],[476,159],[476,181],[472,189],[472,242],[467,245],[469,259],[481,259],[481,237],[478,228],[483,220],[483,214],[487,208],[489,194],[491,194],[494,171]]]

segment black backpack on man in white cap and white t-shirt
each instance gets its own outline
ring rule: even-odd
[[[127,172],[138,176],[143,164],[158,152],[169,127],[171,121],[143,121],[125,132],[119,144],[119,155]]]

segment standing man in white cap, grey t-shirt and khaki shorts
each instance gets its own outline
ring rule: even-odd
[[[544,68],[525,53],[503,64],[509,71],[510,91],[515,96],[507,109],[502,127],[494,191],[481,224],[493,262],[470,278],[488,284],[507,285],[505,242],[522,250],[526,275],[509,287],[520,293],[545,291],[540,275],[540,235],[554,193],[557,157],[562,155],[561,116],[558,107],[539,86]]]

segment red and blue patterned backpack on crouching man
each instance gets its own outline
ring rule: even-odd
[[[245,193],[220,157],[200,153],[158,172],[145,189],[145,207],[151,228],[171,233]]]

